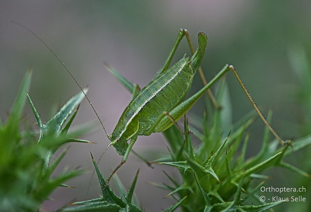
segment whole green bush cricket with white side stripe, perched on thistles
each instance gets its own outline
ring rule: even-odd
[[[77,82],[77,80],[73,77],[72,73],[65,66],[65,64],[58,58],[58,56],[53,52],[52,49],[33,31],[28,29],[26,26],[21,25],[17,22],[16,24],[23,26],[28,31],[30,31],[35,37],[37,37],[51,52],[52,54],[63,64],[64,68],[68,71],[68,73],[75,80],[77,85],[80,87],[83,92],[81,86]],[[186,36],[190,49],[192,51],[193,56],[191,58],[184,57],[175,63],[171,68],[169,65],[174,56],[174,53],[182,40],[182,38]],[[203,59],[205,49],[207,45],[207,36],[200,32],[198,34],[198,47],[194,52],[192,42],[188,35],[188,31],[181,29],[171,50],[169,57],[165,61],[164,65],[160,68],[160,70],[156,73],[156,76],[149,82],[142,90],[135,85],[132,86],[132,100],[129,105],[123,111],[118,124],[116,125],[113,133],[109,135],[104,128],[102,121],[100,120],[99,115],[95,111],[91,101],[88,99],[86,94],[86,99],[92,106],[97,118],[99,119],[107,138],[111,141],[108,147],[104,150],[104,152],[113,145],[116,148],[116,151],[123,156],[121,163],[114,169],[114,171],[107,178],[107,185],[113,176],[113,174],[121,167],[127,160],[128,155],[137,140],[138,135],[150,135],[155,132],[163,132],[168,129],[172,125],[176,124],[181,117],[183,117],[188,110],[199,100],[205,92],[208,92],[214,106],[218,106],[215,101],[212,93],[209,91],[211,85],[213,85],[222,75],[224,75],[228,71],[232,71],[234,76],[237,78],[240,86],[244,90],[251,104],[257,111],[260,118],[267,125],[272,134],[276,137],[277,140],[281,144],[285,142],[276,134],[273,128],[269,125],[267,120],[264,118],[262,113],[259,111],[258,107],[254,103],[252,97],[249,95],[247,89],[242,83],[241,79],[238,76],[235,68],[232,65],[225,65],[218,74],[210,81],[206,82],[202,69],[200,68],[201,61]],[[112,70],[107,64],[106,67],[110,69],[111,72],[117,74],[119,76],[119,80],[122,81],[122,76]],[[191,84],[193,81],[193,76],[196,72],[199,72],[200,77],[203,81],[204,87],[201,88],[197,93],[195,93],[192,97],[189,97],[187,100],[183,101],[187,96],[188,91],[191,88]],[[128,83],[125,78],[123,78],[123,84]],[[179,128],[179,127],[178,127]],[[179,128],[182,132],[182,130]],[[188,132],[182,132],[183,134]],[[128,144],[128,140],[130,143]],[[100,156],[103,156],[104,152]],[[100,159],[99,159],[100,160]],[[94,173],[94,172],[93,172]]]

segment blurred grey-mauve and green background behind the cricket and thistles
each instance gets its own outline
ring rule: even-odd
[[[1,1],[0,117],[6,119],[28,67],[33,69],[29,94],[42,120],[48,120],[55,108],[79,91],[48,49],[11,21],[20,22],[41,36],[81,86],[90,86],[88,97],[109,133],[131,95],[105,70],[103,61],[143,87],[164,63],[179,29],[185,28],[195,46],[198,32],[203,31],[208,36],[202,62],[208,79],[225,64],[233,64],[263,113],[273,109],[272,126],[281,137],[300,138],[311,131],[311,111],[307,109],[310,101],[308,103],[308,97],[301,92],[310,80],[310,75],[301,72],[307,67],[302,64],[303,58],[307,61],[310,58],[310,11],[309,1]],[[186,40],[183,40],[174,62],[185,53],[189,55],[190,51]],[[251,111],[252,106],[233,74],[228,73],[226,79],[232,101],[232,119],[237,121]],[[200,87],[202,83],[196,76],[191,93]],[[191,114],[200,115],[202,111],[202,101],[199,101],[191,109],[189,121]],[[35,122],[30,107],[26,109],[25,116]],[[73,199],[85,200],[92,170],[90,151],[98,158],[109,140],[100,129],[91,107],[84,101],[75,124],[92,120],[97,126],[95,131],[82,139],[97,144],[71,144],[58,170],[60,172],[70,164],[71,168],[79,166],[90,172],[68,182],[76,189],[59,188],[55,191],[51,195],[54,201],[46,201],[42,211],[53,211]],[[260,148],[263,127],[260,120],[251,127],[249,156]],[[33,128],[36,128],[35,124]],[[139,137],[134,150],[150,160],[156,159],[158,155],[155,153],[167,153],[165,139],[160,133]],[[308,172],[311,169],[307,152],[296,153],[288,160]],[[109,148],[100,163],[106,177],[120,160],[121,156],[114,148]],[[155,165],[155,169],[150,169],[130,155],[128,162],[118,171],[126,187],[138,168],[141,172],[135,191],[142,208],[159,211],[174,202],[170,198],[163,199],[166,191],[148,184],[151,181],[167,182],[162,170],[178,179],[174,168]],[[310,180],[284,169],[268,174],[273,178],[265,186],[299,187],[310,183]],[[111,186],[114,187],[113,182]],[[308,192],[310,194],[311,191]],[[98,197],[99,193],[95,177],[87,199]],[[309,211],[308,204],[285,203],[275,210],[299,208]]]

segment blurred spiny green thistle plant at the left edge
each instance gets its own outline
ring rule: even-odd
[[[40,205],[49,199],[52,191],[59,186],[71,187],[64,183],[84,172],[79,169],[67,171],[65,168],[52,177],[67,149],[51,162],[53,154],[61,145],[68,142],[89,143],[74,139],[86,132],[85,127],[84,130],[77,129],[68,133],[78,105],[84,97],[83,93],[69,99],[44,124],[27,94],[31,73],[30,70],[26,72],[7,120],[0,123],[0,210],[4,212],[39,211]],[[26,99],[34,112],[39,133],[31,130],[30,122],[22,118]]]

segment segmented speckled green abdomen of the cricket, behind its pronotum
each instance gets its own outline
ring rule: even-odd
[[[184,100],[191,87],[192,79],[193,71],[188,64],[188,59],[182,59],[137,94],[132,102],[137,108],[141,107],[137,114],[139,135],[150,134],[146,133],[147,129],[163,111],[171,111]]]

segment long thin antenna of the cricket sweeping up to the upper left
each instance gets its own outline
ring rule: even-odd
[[[70,76],[73,78],[73,80],[77,83],[77,85],[79,86],[80,90],[83,92],[84,96],[86,97],[87,101],[90,103],[90,105],[91,105],[93,111],[95,112],[95,114],[96,114],[98,120],[100,121],[100,124],[101,124],[101,126],[103,127],[103,129],[104,129],[104,131],[105,131],[105,133],[106,133],[108,139],[110,140],[110,136],[109,136],[109,134],[107,133],[107,131],[106,131],[105,127],[104,127],[103,122],[100,120],[99,115],[98,115],[97,112],[95,111],[95,109],[94,109],[94,107],[93,107],[91,101],[90,101],[89,98],[86,96],[86,94],[85,94],[85,92],[83,91],[82,87],[81,87],[80,84],[77,82],[76,78],[73,77],[72,73],[69,71],[69,69],[67,68],[67,66],[63,63],[63,61],[62,61],[61,59],[59,59],[59,57],[58,57],[58,56],[53,52],[53,50],[44,42],[44,40],[42,40],[42,39],[39,37],[39,35],[35,34],[35,33],[34,33],[33,31],[31,31],[27,26],[25,26],[25,25],[23,25],[23,24],[21,24],[21,23],[18,23],[18,22],[16,22],[16,21],[12,21],[12,23],[15,23],[15,24],[17,24],[17,25],[19,25],[19,26],[21,26],[21,27],[24,27],[27,31],[29,31],[32,35],[34,35],[38,40],[40,40],[41,43],[43,43],[43,44],[50,50],[50,52],[52,52],[52,54],[58,59],[58,61],[63,65],[63,67],[67,70],[67,72],[70,74]]]

